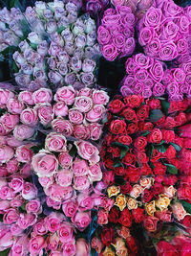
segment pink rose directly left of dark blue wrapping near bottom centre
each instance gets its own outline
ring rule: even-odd
[[[77,212],[72,221],[79,231],[83,231],[91,223],[91,212]]]

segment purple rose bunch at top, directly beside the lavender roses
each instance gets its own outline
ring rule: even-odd
[[[128,7],[117,6],[104,12],[97,30],[97,40],[104,58],[113,61],[117,57],[133,54],[136,46],[135,24],[136,18]]]

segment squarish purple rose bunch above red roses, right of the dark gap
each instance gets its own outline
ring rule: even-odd
[[[162,62],[143,54],[137,54],[132,58],[127,58],[125,67],[127,75],[120,88],[123,97],[139,94],[143,98],[150,98],[164,94]]]

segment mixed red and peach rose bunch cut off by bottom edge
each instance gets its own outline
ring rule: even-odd
[[[110,225],[99,227],[96,236],[92,239],[92,248],[99,256],[111,255],[138,255],[138,244],[130,234],[129,228]]]

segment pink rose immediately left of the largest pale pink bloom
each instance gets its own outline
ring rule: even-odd
[[[19,162],[28,163],[32,161],[33,151],[30,150],[31,147],[31,144],[26,144],[16,149],[15,155]]]

